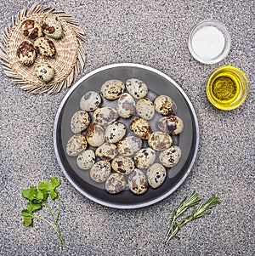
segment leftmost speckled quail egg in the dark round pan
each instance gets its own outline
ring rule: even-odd
[[[68,156],[78,156],[87,148],[87,139],[82,134],[71,136],[66,144],[66,154]]]

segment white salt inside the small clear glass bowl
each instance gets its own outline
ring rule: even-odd
[[[224,35],[215,26],[203,26],[192,37],[192,48],[202,60],[213,60],[224,50]]]

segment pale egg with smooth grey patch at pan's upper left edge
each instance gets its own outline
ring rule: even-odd
[[[101,104],[101,97],[94,91],[89,91],[82,96],[80,100],[80,108],[82,111],[94,111]]]

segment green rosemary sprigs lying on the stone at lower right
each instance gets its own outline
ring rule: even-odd
[[[200,206],[196,207],[199,202],[201,202],[201,199],[198,197],[198,194],[193,191],[188,199],[185,197],[184,200],[179,204],[178,208],[173,209],[172,218],[165,239],[166,243],[169,242],[173,237],[179,238],[177,236],[178,231],[188,222],[210,214],[211,212],[208,212],[208,210],[214,208],[220,201],[217,196],[212,194],[212,196],[206,202],[202,202]],[[178,217],[183,216],[186,210],[193,207],[193,212],[190,215],[175,223],[175,220],[178,219]]]

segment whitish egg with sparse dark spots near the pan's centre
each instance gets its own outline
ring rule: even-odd
[[[126,134],[126,127],[122,122],[113,122],[105,129],[105,140],[110,143],[120,141]]]

